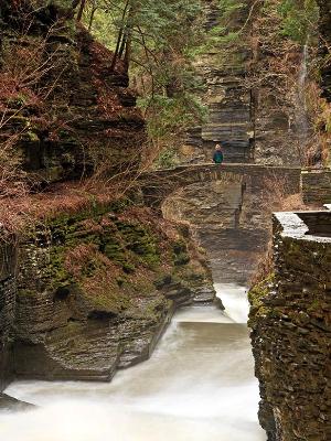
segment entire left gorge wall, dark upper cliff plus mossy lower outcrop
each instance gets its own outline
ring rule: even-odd
[[[177,306],[215,297],[188,227],[148,208],[139,184],[126,197],[129,178],[74,181],[135,172],[146,132],[126,66],[110,69],[72,3],[0,7],[1,170],[17,161],[0,189],[0,390],[18,376],[110,379],[150,355]]]

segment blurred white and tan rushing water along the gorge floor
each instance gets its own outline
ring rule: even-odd
[[[245,290],[216,286],[227,306],[179,312],[146,363],[111,384],[17,381],[40,406],[0,413],[2,441],[263,441]]]

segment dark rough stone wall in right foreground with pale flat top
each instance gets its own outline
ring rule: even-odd
[[[249,326],[269,441],[331,435],[331,213],[274,217],[275,273],[252,289]]]

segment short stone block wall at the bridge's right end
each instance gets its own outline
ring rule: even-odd
[[[308,205],[331,203],[331,170],[303,171],[302,197]]]

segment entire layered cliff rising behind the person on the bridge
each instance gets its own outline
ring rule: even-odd
[[[183,162],[211,161],[217,142],[224,146],[225,162],[305,162],[303,89],[298,90],[303,49],[281,35],[276,3],[233,2],[228,12],[226,4],[204,2],[211,34],[194,65],[209,116],[189,131],[180,152]]]

